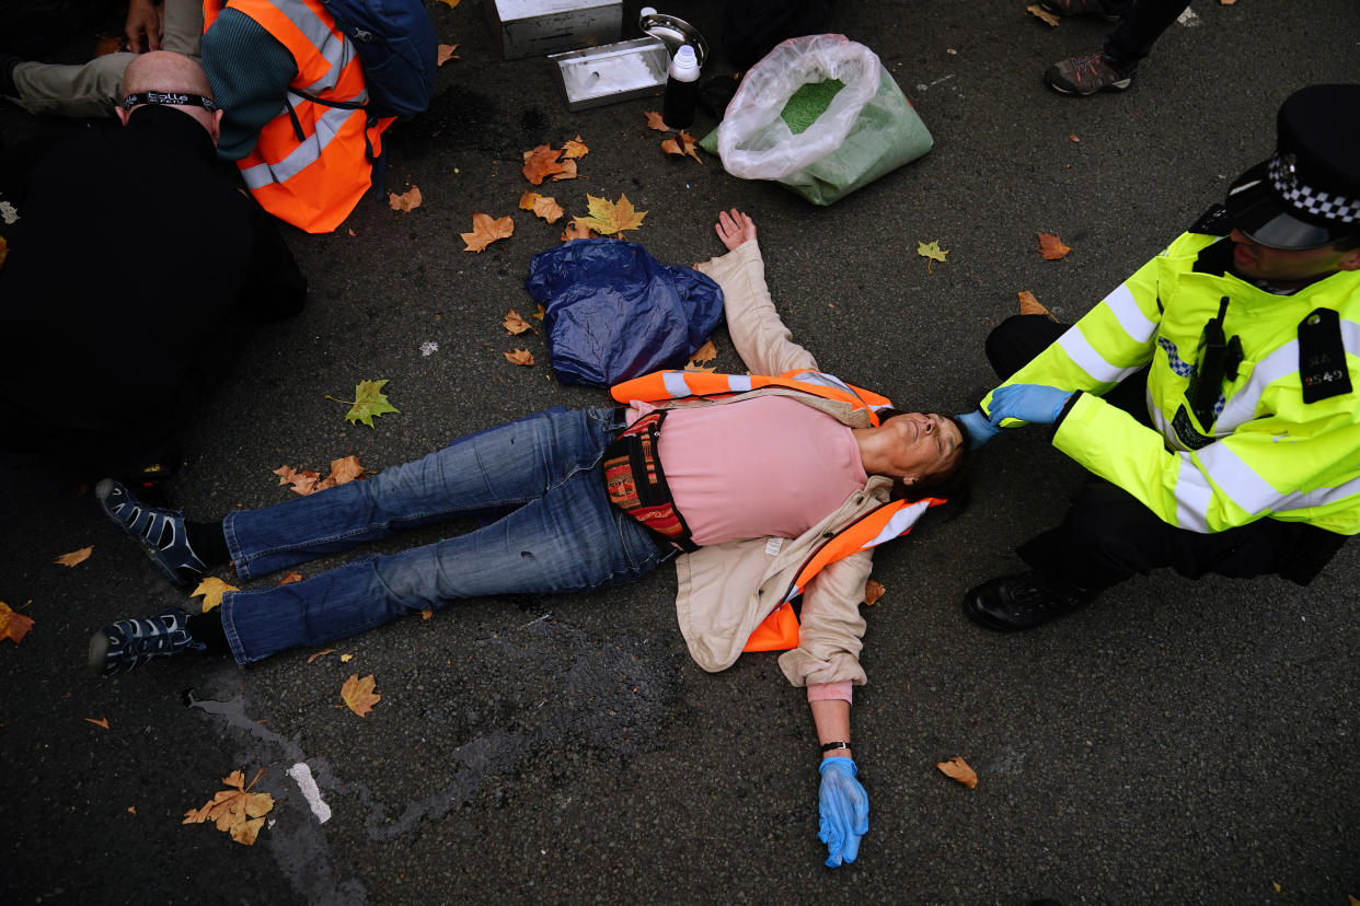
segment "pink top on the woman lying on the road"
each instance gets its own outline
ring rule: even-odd
[[[660,451],[696,545],[797,538],[869,481],[849,425],[786,397],[675,409]]]

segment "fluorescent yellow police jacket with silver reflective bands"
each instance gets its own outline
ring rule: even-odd
[[[1227,239],[1183,234],[1006,383],[1089,391],[1053,444],[1172,526],[1213,532],[1270,518],[1357,534],[1360,272],[1276,295],[1225,273],[1228,261]],[[1224,334],[1240,338],[1243,361],[1223,382],[1212,424],[1201,424],[1187,390],[1224,297]],[[1299,331],[1319,310],[1340,315],[1356,391],[1306,403]],[[1157,431],[1099,395],[1144,365]]]

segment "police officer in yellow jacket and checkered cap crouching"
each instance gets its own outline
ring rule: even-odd
[[[987,338],[1004,383],[974,446],[1053,425],[1091,473],[1030,572],[964,596],[1024,630],[1134,573],[1307,584],[1360,532],[1360,84],[1280,107],[1277,149],[1074,326],[1019,315]]]

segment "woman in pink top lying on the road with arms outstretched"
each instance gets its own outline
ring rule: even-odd
[[[646,375],[612,388],[627,407],[539,413],[220,523],[188,522],[99,482],[105,513],[178,585],[228,560],[254,579],[397,528],[505,515],[303,581],[227,592],[215,613],[171,607],[110,623],[90,641],[91,667],[121,674],[188,651],[230,651],[249,664],[461,598],[634,581],[680,549],[676,611],[700,667],[725,670],[744,648],[792,648],[779,666],[806,686],[821,743],[827,865],[854,861],[869,827],[849,743],[851,687],[865,682],[870,550],[934,503],[967,443],[949,418],[895,413],[887,398],[816,371],[770,300],[755,224],[724,212],[717,232],[729,253],[698,268],[722,287],[752,376]],[[800,592],[801,626],[789,604]]]

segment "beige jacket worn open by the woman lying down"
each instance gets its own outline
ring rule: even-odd
[[[752,374],[781,375],[797,368],[816,369],[817,361],[792,340],[770,300],[764,261],[753,240],[734,251],[696,265],[722,287],[728,330],[737,353]],[[782,387],[756,390],[725,399],[675,401],[662,407],[724,405],[760,395],[787,395],[838,418],[851,428],[869,427],[868,414],[849,403],[809,398]],[[680,580],[676,617],[690,655],[709,671],[726,670],[741,655],[747,638],[783,599],[800,566],[828,534],[835,534],[888,501],[888,478],[870,475],[832,513],[801,538],[751,538],[709,545],[676,558]],[[872,566],[870,551],[860,551],[824,568],[802,595],[798,647],[779,657],[794,686],[851,681],[864,685],[860,648],[864,618],[860,603]]]

